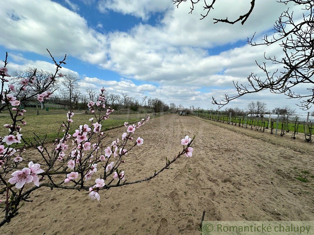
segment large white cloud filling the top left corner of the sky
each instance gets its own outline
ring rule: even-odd
[[[106,61],[106,35],[88,27],[79,14],[55,2],[2,3],[0,26],[0,44],[9,49],[47,56],[48,48],[56,56],[67,53],[92,64]]]

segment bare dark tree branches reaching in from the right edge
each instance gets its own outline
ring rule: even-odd
[[[270,90],[272,93],[282,93],[289,99],[300,100],[297,104],[303,110],[308,110],[314,104],[314,1],[313,0],[280,0],[279,2],[287,4],[289,2],[300,5],[303,10],[302,20],[295,20],[293,13],[284,11],[274,24],[275,36],[271,39],[264,36],[262,43],[253,42],[254,35],[248,39],[252,46],[271,45],[280,42],[280,47],[284,52],[283,58],[265,57],[265,60],[272,64],[279,65],[282,69],[268,70],[266,63],[256,64],[263,71],[265,77],[261,78],[255,73],[247,77],[248,86],[234,82],[238,95],[229,96],[217,102],[213,97],[213,103],[224,106],[231,100],[241,97],[245,94],[255,93],[262,90]],[[228,23],[228,22],[227,22]],[[299,88],[304,86],[306,89]],[[311,87],[312,86],[312,87]],[[295,93],[295,90],[302,89],[304,92]]]

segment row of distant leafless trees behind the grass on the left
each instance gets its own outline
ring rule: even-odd
[[[31,94],[36,94],[42,90],[42,88],[48,83],[51,73],[42,69],[36,69],[35,67],[27,68],[26,70],[16,70],[12,73],[12,81],[14,86],[19,90],[22,87],[22,81],[25,79],[30,80],[31,76],[36,74],[36,80],[31,83],[27,90],[23,91],[20,96],[31,97]],[[79,109],[87,107],[87,103],[92,100],[98,99],[98,91],[88,87],[85,91],[82,91],[79,86],[80,79],[73,75],[64,76],[61,74],[61,79],[48,90],[56,90],[49,99],[50,103],[59,104],[62,106],[68,106],[70,109]],[[28,101],[35,101],[34,97],[30,100],[25,100],[25,104]],[[45,107],[44,102],[41,103],[41,109]],[[166,112],[169,110],[169,105],[161,99],[155,97],[143,96],[141,100],[130,96],[126,92],[121,94],[105,92],[106,106],[110,106],[115,110],[127,109],[134,112]]]

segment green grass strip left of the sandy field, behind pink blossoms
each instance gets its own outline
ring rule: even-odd
[[[61,111],[61,113],[60,113]],[[21,126],[24,139],[33,140],[33,132],[35,132],[40,138],[44,138],[47,135],[48,141],[53,141],[58,137],[58,130],[62,121],[67,121],[65,110],[54,110],[51,111],[41,111],[44,112],[42,115],[35,115],[32,112],[26,112],[24,115],[24,121],[26,121],[25,126]],[[46,112],[46,113],[45,113]],[[59,112],[59,113],[56,113]],[[82,112],[82,111],[80,111]],[[76,111],[74,111],[76,113]],[[148,114],[149,115],[149,114]],[[71,125],[70,133],[74,133],[75,129],[78,129],[79,125],[90,124],[89,118],[93,117],[92,114],[74,114],[72,117],[73,123]],[[155,116],[157,117],[157,116]],[[121,114],[114,115],[111,114],[110,118],[104,120],[101,130],[108,130],[111,128],[119,127],[124,124],[124,122],[133,123],[141,120],[142,118],[146,118],[144,114]],[[153,118],[153,117],[152,117]],[[3,124],[12,123],[11,119],[8,115],[0,116],[0,136],[4,136],[8,134],[8,129],[3,127]],[[61,133],[61,135],[63,135]]]

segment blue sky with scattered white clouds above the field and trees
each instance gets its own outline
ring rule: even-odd
[[[210,17],[199,20],[201,5],[188,14],[187,3],[177,9],[171,0],[11,0],[0,9],[0,55],[9,52],[11,70],[31,65],[53,70],[48,48],[58,59],[68,54],[64,73],[81,79],[82,92],[105,86],[138,99],[149,95],[185,107],[216,108],[212,96],[233,94],[232,81],[260,73],[255,60],[263,62],[265,50],[281,53],[278,46],[250,47],[246,39],[269,33],[284,4],[258,2],[243,26],[213,24],[213,17],[243,13],[249,2],[222,0]],[[273,98],[264,92],[230,106],[244,108],[259,99],[273,108]],[[277,105],[294,105],[284,96],[276,99]]]

